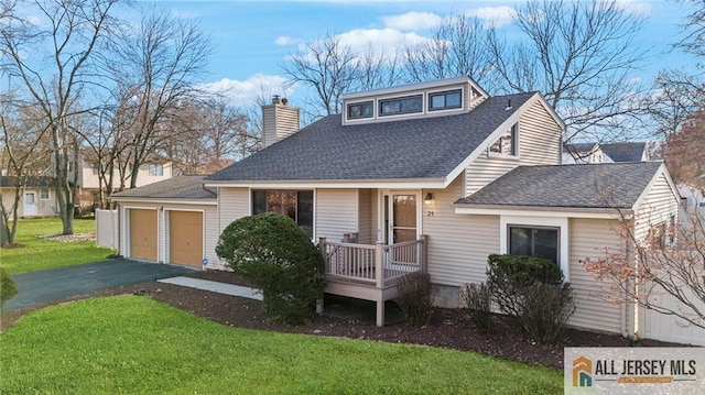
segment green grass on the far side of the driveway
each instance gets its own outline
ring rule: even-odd
[[[10,274],[35,272],[45,268],[70,266],[105,261],[113,250],[97,248],[95,241],[62,243],[42,240],[37,235],[61,233],[61,218],[21,219],[18,222],[15,242],[19,248],[0,249],[0,266]],[[75,219],[74,232],[87,233],[96,230],[93,219]]]

